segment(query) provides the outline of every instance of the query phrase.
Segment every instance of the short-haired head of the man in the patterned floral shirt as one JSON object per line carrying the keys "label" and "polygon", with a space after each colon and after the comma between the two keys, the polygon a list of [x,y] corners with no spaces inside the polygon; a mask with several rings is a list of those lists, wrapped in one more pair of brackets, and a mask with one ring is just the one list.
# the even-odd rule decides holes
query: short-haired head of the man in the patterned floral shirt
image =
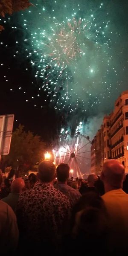
{"label": "short-haired head of the man in the patterned floral shirt", "polygon": [[51,161],[43,161],[38,166],[38,177],[41,182],[51,183],[55,178],[55,164]]}

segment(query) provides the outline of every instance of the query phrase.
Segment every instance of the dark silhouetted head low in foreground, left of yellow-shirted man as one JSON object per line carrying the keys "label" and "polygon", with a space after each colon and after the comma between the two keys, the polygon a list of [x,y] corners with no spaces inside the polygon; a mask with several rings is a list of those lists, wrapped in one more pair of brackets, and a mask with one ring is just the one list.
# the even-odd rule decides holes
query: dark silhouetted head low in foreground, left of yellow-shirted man
{"label": "dark silhouetted head low in foreground, left of yellow-shirted man", "polygon": [[[87,192],[73,208],[72,236],[78,246],[87,242],[89,251],[95,252],[95,246],[105,239],[107,233],[107,212],[104,201],[95,192]],[[92,246],[92,238],[95,238]],[[106,241],[105,241],[106,242]]]}

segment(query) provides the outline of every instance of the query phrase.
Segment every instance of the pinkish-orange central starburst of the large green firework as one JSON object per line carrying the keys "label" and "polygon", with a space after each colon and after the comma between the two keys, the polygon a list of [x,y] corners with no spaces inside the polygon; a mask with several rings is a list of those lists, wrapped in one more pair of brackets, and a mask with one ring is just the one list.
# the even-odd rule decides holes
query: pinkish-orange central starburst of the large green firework
{"label": "pinkish-orange central starburst of the large green firework", "polygon": [[[84,54],[84,52],[82,51],[82,49],[79,47],[79,43],[76,41],[77,37],[76,37],[76,33],[77,36],[80,35],[81,30],[83,31],[83,29],[85,29],[85,27],[87,26],[88,23],[85,23],[82,28],[81,28],[81,18],[79,18],[79,22],[77,23],[77,21],[75,20],[75,18],[73,18],[73,25],[70,22],[67,22],[68,28],[70,29],[70,31],[68,31],[67,26],[61,28],[61,31],[56,33],[54,31],[54,34],[56,36],[56,38],[50,38],[50,41],[52,40],[52,42],[48,43],[48,44],[44,44],[47,47],[49,47],[49,49],[53,48],[53,52],[52,53],[47,53],[48,56],[54,56],[57,55],[55,58],[53,58],[53,61],[57,60],[56,64],[58,65],[58,67],[62,64],[62,66],[64,67],[65,65],[69,65],[70,64],[70,60],[73,60],[73,58],[81,58],[81,53]],[[74,26],[75,24],[75,26]],[[66,32],[65,32],[66,31]],[[73,35],[75,33],[75,35]],[[45,53],[46,54],[46,53]],[[66,55],[66,56],[64,56]],[[66,62],[66,63],[65,63]]]}

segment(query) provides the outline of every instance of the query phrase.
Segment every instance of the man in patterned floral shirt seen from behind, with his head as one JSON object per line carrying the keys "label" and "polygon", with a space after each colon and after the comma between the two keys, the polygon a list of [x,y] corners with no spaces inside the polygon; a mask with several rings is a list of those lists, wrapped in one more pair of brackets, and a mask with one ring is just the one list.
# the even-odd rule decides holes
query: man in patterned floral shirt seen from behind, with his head
{"label": "man in patterned floral shirt seen from behind, with his head", "polygon": [[55,165],[44,161],[38,167],[40,183],[20,195],[17,222],[20,232],[20,253],[53,253],[60,245],[70,212],[67,196],[52,186]]}

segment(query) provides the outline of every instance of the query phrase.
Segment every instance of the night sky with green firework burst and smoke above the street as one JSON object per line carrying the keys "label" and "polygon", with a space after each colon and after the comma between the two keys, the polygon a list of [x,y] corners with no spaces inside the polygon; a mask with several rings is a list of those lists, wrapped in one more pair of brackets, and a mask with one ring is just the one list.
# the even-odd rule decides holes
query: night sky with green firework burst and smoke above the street
{"label": "night sky with green firework burst and smoke above the street", "polygon": [[14,129],[21,123],[48,142],[79,122],[92,139],[128,89],[128,3],[32,4],[1,20],[0,115],[14,113]]}

